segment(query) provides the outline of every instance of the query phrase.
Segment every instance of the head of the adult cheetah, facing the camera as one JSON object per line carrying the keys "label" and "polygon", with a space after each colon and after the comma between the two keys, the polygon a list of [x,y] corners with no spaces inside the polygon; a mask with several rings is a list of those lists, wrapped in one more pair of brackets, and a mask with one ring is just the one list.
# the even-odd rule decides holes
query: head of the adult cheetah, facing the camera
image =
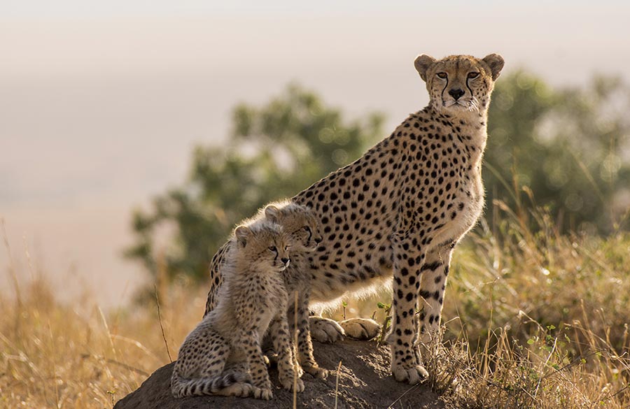
{"label": "head of the adult cheetah, facing the camera", "polygon": [[451,55],[434,59],[422,54],[416,57],[414,66],[426,82],[430,106],[439,113],[459,116],[488,109],[494,81],[503,69],[503,57]]}

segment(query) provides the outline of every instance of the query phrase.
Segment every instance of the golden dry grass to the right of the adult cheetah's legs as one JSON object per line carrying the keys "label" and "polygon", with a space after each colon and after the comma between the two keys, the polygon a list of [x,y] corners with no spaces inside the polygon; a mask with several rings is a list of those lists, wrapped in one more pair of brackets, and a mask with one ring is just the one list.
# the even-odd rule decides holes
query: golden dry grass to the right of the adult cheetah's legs
{"label": "golden dry grass to the right of the adult cheetah's legs", "polygon": [[454,263],[433,387],[462,408],[630,407],[630,235],[496,209]]}

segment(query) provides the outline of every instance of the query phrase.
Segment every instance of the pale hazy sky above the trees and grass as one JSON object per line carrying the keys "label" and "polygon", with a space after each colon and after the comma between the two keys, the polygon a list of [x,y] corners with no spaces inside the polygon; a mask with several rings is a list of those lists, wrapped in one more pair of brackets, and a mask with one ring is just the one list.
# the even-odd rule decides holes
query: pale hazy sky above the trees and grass
{"label": "pale hazy sky above the trees and grass", "polygon": [[27,277],[27,247],[59,291],[85,282],[116,304],[144,277],[120,259],[132,208],[186,177],[195,144],[225,139],[235,103],[295,80],[392,128],[426,104],[421,52],[500,52],[506,71],[556,86],[628,82],[629,21],[622,1],[0,0],[0,217],[13,256]]}

